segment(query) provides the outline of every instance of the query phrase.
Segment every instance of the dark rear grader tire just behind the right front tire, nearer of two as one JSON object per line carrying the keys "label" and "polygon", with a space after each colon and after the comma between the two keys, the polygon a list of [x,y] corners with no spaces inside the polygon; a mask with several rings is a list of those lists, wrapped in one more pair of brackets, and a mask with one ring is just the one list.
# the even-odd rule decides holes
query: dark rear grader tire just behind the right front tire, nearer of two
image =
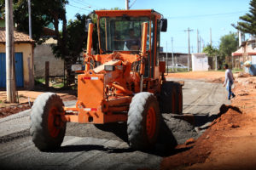
{"label": "dark rear grader tire just behind the right front tire, nearer of two", "polygon": [[173,82],[165,82],[162,84],[159,96],[160,113],[174,113],[176,96]]}

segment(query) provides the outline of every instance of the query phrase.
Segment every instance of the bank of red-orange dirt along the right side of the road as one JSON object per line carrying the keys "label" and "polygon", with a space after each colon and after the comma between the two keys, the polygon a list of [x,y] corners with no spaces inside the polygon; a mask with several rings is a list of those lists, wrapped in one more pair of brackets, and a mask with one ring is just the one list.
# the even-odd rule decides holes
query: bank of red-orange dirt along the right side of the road
{"label": "bank of red-orange dirt along the right side of the road", "polygon": [[256,77],[237,76],[235,87],[232,105],[195,143],[178,145],[185,151],[164,158],[160,169],[256,169]]}

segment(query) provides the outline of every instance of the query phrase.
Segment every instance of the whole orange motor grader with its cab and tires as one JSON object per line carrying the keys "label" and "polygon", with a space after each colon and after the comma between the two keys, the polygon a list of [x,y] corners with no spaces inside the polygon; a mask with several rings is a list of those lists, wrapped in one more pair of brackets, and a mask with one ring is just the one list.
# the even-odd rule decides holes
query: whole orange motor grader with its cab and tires
{"label": "whole orange motor grader with its cab and tires", "polygon": [[159,59],[167,20],[151,9],[96,15],[99,54],[91,53],[90,23],[84,65],[73,65],[79,72],[76,105],[64,107],[58,95],[44,93],[32,106],[30,132],[39,150],[60,147],[67,122],[127,122],[130,146],[148,149],[158,137],[160,113],[182,113],[182,85],[166,81],[166,63]]}

